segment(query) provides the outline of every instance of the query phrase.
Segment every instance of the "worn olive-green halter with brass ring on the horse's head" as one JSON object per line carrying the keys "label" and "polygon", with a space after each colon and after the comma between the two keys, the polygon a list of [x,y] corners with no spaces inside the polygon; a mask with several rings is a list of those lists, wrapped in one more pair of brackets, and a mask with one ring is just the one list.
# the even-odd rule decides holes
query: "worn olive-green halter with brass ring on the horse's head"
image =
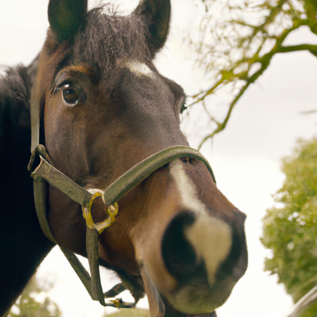
{"label": "worn olive-green halter with brass ring on the horse's head", "polygon": [[[214,182],[216,183],[212,169],[208,161],[197,150],[187,146],[172,146],[159,151],[134,165],[129,171],[114,181],[105,190],[103,195],[101,193],[96,193],[93,195],[53,166],[45,150],[45,147],[42,144],[39,144],[39,113],[39,103],[34,102],[34,100],[31,98],[32,155],[28,165],[28,170],[31,172],[31,177],[33,178],[36,214],[39,219],[42,231],[50,241],[58,245],[50,230],[47,219],[46,196],[47,183],[49,183],[82,206],[83,216],[87,224],[86,250],[90,275],[72,251],[61,245],[59,245],[59,247],[66,256],[70,265],[73,267],[76,274],[81,279],[81,282],[84,284],[91,298],[93,300],[99,301],[103,306],[112,306],[118,308],[135,307],[137,299],[135,299],[136,301],[134,303],[125,303],[121,299],[116,299],[108,303],[105,302],[105,298],[114,297],[125,289],[129,289],[130,292],[132,292],[133,287],[131,286],[131,282],[125,281],[123,278],[121,278],[122,283],[117,284],[108,292],[103,293],[98,263],[99,233],[101,233],[102,230],[110,226],[115,221],[115,216],[118,213],[117,201],[165,164],[182,157],[198,159],[206,165]],[[35,162],[40,163],[38,166],[34,166],[36,165]],[[91,206],[94,199],[96,199],[98,196],[102,196],[102,199],[105,203],[105,215],[107,217],[103,222],[94,223],[91,216]]]}

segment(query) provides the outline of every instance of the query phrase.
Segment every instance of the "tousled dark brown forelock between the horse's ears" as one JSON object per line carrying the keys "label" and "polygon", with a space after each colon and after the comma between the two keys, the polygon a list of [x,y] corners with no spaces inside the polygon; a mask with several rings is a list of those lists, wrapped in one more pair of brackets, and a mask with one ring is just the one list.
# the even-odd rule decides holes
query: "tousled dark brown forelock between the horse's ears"
{"label": "tousled dark brown forelock between the horse's ears", "polygon": [[109,9],[109,5],[95,8],[87,13],[74,38],[74,62],[94,61],[92,66],[107,74],[113,62],[120,58],[150,61],[147,35],[146,21],[135,13],[121,16]]}

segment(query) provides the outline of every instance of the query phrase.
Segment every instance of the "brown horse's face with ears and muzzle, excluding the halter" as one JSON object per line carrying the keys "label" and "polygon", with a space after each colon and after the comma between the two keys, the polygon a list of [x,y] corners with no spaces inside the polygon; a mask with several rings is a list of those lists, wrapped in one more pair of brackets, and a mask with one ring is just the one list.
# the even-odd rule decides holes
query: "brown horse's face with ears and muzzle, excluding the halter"
{"label": "brown horse's face with ears and muzzle, excluding the halter", "polygon": [[[142,1],[127,17],[86,13],[87,1],[76,9],[72,2],[49,3],[33,98],[44,104],[55,167],[91,192],[104,191],[151,154],[188,145],[179,129],[184,91],[152,63],[166,40],[170,2]],[[247,266],[245,216],[202,162],[175,160],[118,204],[116,222],[100,235],[100,258],[121,275],[142,276],[153,316],[153,285],[176,315],[223,304]],[[85,256],[81,206],[50,186],[49,207],[55,239]],[[103,214],[103,206],[95,209]]]}

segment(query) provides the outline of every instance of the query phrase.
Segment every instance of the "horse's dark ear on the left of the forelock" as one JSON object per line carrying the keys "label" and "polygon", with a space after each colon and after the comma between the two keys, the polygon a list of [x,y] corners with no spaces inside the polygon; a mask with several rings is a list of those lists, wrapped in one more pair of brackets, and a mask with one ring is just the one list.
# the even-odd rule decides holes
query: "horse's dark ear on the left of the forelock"
{"label": "horse's dark ear on the left of the forelock", "polygon": [[58,42],[73,36],[87,12],[87,0],[50,0],[48,8],[49,25]]}

